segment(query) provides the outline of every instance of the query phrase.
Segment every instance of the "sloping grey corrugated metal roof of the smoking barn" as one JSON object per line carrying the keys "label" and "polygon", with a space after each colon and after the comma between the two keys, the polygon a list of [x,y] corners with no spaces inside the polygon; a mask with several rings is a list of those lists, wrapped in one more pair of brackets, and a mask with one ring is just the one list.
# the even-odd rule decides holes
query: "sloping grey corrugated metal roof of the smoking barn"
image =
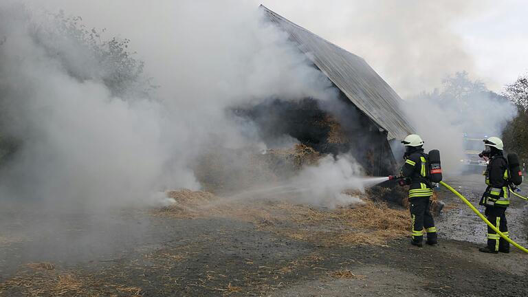
{"label": "sloping grey corrugated metal roof of the smoking barn", "polygon": [[405,120],[398,94],[360,56],[322,39],[261,5],[270,21],[287,32],[299,49],[361,111],[388,132],[387,138],[404,139],[414,129]]}

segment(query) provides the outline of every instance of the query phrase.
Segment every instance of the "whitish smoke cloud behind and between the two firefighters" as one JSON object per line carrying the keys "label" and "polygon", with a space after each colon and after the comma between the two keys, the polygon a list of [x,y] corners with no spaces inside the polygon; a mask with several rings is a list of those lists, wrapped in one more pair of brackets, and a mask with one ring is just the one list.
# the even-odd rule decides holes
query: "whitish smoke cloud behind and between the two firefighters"
{"label": "whitish smoke cloud behind and between the two firefighters", "polygon": [[483,83],[471,81],[466,73],[457,73],[446,82],[432,94],[410,98],[404,109],[426,142],[426,151],[439,149],[444,172],[456,175],[471,170],[460,162],[468,158],[466,151],[484,149],[483,142],[465,142],[465,137],[501,137],[517,109],[506,98],[488,91]]}

